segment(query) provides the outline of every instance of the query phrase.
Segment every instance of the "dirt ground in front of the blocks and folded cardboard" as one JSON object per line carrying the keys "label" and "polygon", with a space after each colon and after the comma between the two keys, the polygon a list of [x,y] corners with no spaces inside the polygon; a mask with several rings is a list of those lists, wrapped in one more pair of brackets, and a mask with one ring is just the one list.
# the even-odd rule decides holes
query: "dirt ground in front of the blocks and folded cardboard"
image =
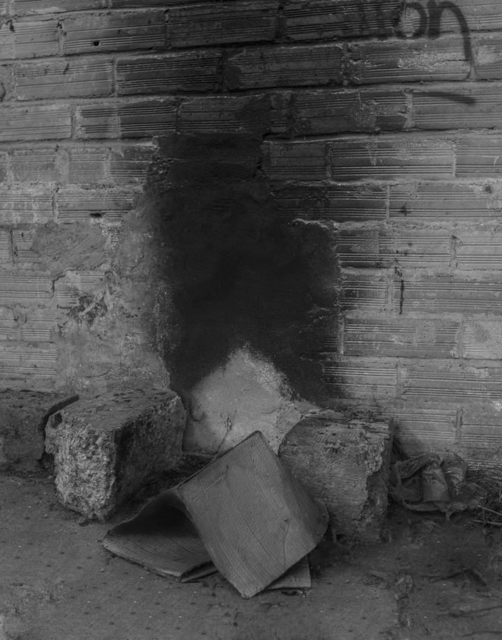
{"label": "dirt ground in front of the blocks and folded cardboard", "polygon": [[393,506],[385,542],[325,539],[310,590],[250,600],[219,575],[181,584],[112,556],[109,523],[61,507],[47,475],[0,476],[0,520],[0,640],[502,637],[502,529],[471,515]]}

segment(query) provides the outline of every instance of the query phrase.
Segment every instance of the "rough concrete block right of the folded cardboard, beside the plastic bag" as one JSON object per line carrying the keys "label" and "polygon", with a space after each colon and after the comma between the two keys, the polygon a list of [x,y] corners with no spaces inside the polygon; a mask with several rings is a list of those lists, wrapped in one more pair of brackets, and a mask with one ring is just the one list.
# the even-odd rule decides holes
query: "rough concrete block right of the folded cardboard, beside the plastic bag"
{"label": "rough concrete block right of the folded cardboard, beside the plastic bag", "polygon": [[326,504],[333,533],[379,540],[387,515],[391,448],[388,423],[323,411],[291,429],[279,457]]}

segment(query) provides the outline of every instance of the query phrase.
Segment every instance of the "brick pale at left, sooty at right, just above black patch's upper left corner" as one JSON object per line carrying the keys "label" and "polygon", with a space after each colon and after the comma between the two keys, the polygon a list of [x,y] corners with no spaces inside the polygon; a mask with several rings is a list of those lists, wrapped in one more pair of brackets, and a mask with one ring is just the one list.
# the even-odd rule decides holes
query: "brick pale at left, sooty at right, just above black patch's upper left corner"
{"label": "brick pale at left, sooty at right, just above black patch's upper left corner", "polygon": [[81,139],[161,136],[174,130],[176,109],[174,99],[77,107],[76,134]]}

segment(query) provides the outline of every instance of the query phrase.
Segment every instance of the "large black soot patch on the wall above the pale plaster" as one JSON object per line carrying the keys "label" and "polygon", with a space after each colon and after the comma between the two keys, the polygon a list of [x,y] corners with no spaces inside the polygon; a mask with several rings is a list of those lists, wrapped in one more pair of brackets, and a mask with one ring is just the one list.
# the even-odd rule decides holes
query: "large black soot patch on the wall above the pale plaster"
{"label": "large black soot patch on the wall above the pale plaster", "polygon": [[245,347],[298,396],[322,403],[319,354],[335,331],[335,230],[280,217],[257,171],[260,143],[241,134],[162,141],[147,191],[172,292],[162,350],[185,398]]}

